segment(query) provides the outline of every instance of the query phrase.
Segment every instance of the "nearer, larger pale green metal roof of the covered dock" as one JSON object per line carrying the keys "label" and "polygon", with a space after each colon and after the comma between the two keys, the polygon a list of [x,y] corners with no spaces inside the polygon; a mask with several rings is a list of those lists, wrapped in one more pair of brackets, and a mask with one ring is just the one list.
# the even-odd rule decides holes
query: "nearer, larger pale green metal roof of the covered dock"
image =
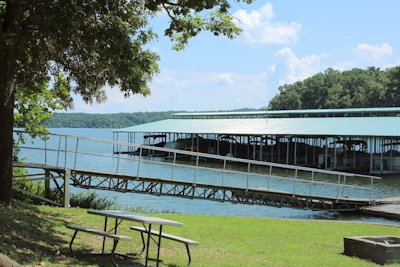
{"label": "nearer, larger pale green metal roof of the covered dock", "polygon": [[397,138],[400,117],[168,119],[114,132]]}

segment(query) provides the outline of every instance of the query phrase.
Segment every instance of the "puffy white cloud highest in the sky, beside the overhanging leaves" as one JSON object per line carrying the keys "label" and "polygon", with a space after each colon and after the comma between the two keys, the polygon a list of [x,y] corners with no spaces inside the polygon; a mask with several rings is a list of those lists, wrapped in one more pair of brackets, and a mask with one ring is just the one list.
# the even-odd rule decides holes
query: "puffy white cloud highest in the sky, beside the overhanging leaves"
{"label": "puffy white cloud highest in the sky, beside the overhanging leaves", "polygon": [[301,24],[297,22],[272,22],[274,17],[271,3],[259,10],[239,9],[233,16],[236,25],[242,28],[239,40],[249,44],[289,44],[297,41]]}

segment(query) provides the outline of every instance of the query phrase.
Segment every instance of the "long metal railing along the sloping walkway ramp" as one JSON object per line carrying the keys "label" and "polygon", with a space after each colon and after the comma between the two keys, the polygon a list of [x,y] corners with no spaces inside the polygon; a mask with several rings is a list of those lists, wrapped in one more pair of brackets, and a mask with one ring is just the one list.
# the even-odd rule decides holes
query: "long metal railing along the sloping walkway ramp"
{"label": "long metal railing along the sloping walkway ramp", "polygon": [[[15,133],[27,135],[24,131],[15,131]],[[284,191],[293,195],[307,194],[369,200],[372,197],[374,181],[380,179],[380,177],[370,175],[71,135],[46,134],[40,140],[26,139],[28,141],[25,144],[19,145],[21,152],[42,153],[41,156],[37,153],[25,153],[29,162],[68,169],[136,175],[137,178],[154,176],[152,178],[165,180],[183,179],[177,173],[185,169],[192,170],[185,172],[184,179],[193,184],[211,183],[220,186],[236,186],[246,190],[281,190],[281,185],[284,184]],[[121,149],[119,149],[119,154],[114,155],[111,146],[130,147],[130,150],[136,151],[137,155],[122,154]],[[100,149],[100,147],[103,148]],[[164,154],[164,160],[145,156],[150,151]],[[107,160],[104,162],[103,159]],[[150,170],[155,170],[156,173],[149,173]]]}

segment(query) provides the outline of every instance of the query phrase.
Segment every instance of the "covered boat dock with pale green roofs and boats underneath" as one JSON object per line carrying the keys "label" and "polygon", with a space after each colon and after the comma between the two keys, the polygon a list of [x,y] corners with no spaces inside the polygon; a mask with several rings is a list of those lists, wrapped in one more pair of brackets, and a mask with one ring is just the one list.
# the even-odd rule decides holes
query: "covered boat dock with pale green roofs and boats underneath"
{"label": "covered boat dock with pale green roofs and boats underneath", "polygon": [[[359,173],[400,172],[400,108],[177,113],[114,141]],[[168,157],[166,154],[148,156]],[[137,154],[114,147],[116,154]]]}

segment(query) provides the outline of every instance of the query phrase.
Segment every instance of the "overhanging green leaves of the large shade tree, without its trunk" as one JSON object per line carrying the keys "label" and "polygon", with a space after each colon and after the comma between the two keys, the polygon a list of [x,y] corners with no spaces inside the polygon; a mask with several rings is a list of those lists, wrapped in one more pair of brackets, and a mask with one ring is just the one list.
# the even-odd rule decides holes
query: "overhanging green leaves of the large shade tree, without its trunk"
{"label": "overhanging green leaves of the large shade tree, without its trunk", "polygon": [[126,97],[150,94],[159,56],[148,49],[157,38],[149,18],[162,10],[170,18],[165,34],[175,50],[202,31],[228,38],[240,33],[227,0],[21,0],[9,5],[0,3],[0,20],[7,22],[7,12],[18,11],[20,16],[12,15],[19,28],[0,32],[0,52],[15,51],[7,58],[17,64],[9,74],[15,79],[15,125],[34,134],[45,131],[41,125],[53,111],[73,106],[72,92],[88,103],[105,101],[105,86],[119,88]]}

